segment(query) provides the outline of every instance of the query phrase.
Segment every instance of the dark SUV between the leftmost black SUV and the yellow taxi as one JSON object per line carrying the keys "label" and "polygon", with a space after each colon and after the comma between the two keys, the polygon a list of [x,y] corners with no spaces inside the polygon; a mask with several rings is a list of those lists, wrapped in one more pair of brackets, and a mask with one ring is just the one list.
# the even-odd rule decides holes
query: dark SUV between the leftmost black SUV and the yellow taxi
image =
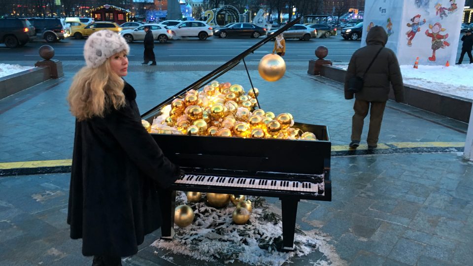
{"label": "dark SUV between the leftmost black SUV and the yellow taxi", "polygon": [[60,18],[31,18],[28,19],[36,30],[36,37],[47,42],[64,40],[70,33],[66,21]]}

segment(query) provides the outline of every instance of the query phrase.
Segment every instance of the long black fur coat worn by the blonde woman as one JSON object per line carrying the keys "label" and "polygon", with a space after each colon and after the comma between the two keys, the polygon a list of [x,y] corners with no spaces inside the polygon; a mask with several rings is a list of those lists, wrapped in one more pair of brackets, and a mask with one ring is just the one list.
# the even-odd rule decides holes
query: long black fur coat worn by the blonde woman
{"label": "long black fur coat worn by the blonde woman", "polygon": [[124,107],[75,123],[68,224],[84,256],[136,254],[161,226],[160,189],[180,172],[141,125],[135,89],[123,92]]}

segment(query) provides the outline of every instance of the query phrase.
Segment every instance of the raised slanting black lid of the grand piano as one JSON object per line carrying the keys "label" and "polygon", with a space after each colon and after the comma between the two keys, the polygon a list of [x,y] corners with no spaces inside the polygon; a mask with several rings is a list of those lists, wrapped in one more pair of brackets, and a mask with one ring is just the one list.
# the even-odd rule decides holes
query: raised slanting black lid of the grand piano
{"label": "raised slanting black lid of the grand piano", "polygon": [[183,93],[185,93],[185,92],[187,92],[191,89],[194,89],[194,90],[197,91],[200,88],[202,88],[205,84],[207,84],[210,81],[215,80],[219,76],[225,74],[228,70],[230,70],[230,69],[234,68],[235,66],[237,66],[241,62],[241,60],[243,60],[247,55],[253,53],[256,49],[260,48],[265,43],[269,42],[272,38],[275,38],[275,36],[277,36],[278,34],[283,33],[284,31],[286,31],[290,27],[297,24],[297,22],[299,22],[301,20],[301,18],[302,18],[302,16],[299,16],[295,20],[289,22],[287,25],[285,25],[284,27],[277,30],[275,33],[273,33],[271,35],[267,35],[266,38],[259,41],[255,45],[251,46],[247,50],[243,51],[241,54],[237,55],[236,57],[234,57],[233,59],[231,59],[227,63],[223,64],[222,66],[217,67],[215,70],[213,70],[212,72],[210,72],[207,75],[203,76],[198,81],[192,83],[191,85],[187,86],[185,89],[181,90],[180,92],[178,92],[178,93],[174,94],[173,96],[169,97],[167,100],[164,100],[160,104],[156,105],[151,110],[149,110],[149,111],[145,112],[144,114],[142,114],[141,119],[145,119],[145,120],[149,119],[150,117],[155,115],[156,111],[158,111],[164,104],[169,103],[171,100],[173,100],[177,96],[182,95]]}

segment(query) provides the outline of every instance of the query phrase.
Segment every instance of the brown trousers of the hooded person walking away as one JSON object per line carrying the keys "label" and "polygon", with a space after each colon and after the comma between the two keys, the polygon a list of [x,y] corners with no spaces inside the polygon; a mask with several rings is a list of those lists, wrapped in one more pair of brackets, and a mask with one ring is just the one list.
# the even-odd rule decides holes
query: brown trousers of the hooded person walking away
{"label": "brown trousers of the hooded person walking away", "polygon": [[371,146],[376,145],[378,143],[379,132],[381,131],[384,107],[386,107],[385,101],[355,100],[355,104],[353,105],[355,114],[353,115],[351,124],[351,140],[360,141],[365,117],[368,115],[368,110],[370,110],[370,129],[368,130],[366,142]]}

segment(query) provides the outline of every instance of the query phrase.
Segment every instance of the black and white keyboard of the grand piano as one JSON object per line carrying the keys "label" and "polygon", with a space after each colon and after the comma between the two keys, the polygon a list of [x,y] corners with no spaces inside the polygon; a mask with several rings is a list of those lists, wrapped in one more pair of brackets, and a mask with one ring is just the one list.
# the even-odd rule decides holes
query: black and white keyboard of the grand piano
{"label": "black and white keyboard of the grand piano", "polygon": [[186,174],[181,176],[181,178],[177,179],[174,183],[203,185],[210,187],[234,187],[275,191],[307,192],[315,194],[324,193],[323,182],[320,184],[314,184],[311,182],[300,181]]}

